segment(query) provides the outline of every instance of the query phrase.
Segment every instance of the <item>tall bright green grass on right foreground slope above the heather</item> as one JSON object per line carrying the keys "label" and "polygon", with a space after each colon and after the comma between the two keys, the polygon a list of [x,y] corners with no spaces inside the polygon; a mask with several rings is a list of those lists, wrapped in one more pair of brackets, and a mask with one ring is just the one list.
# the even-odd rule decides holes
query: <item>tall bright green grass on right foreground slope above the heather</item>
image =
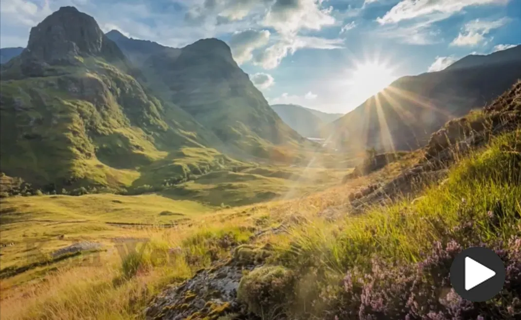
{"label": "tall bright green grass on right foreground slope above the heather", "polygon": [[[473,242],[506,243],[521,233],[520,139],[519,130],[495,138],[490,146],[451,168],[446,183],[427,187],[414,203],[404,198],[388,207],[349,216],[344,222],[305,220],[289,235],[270,240],[277,249],[271,263],[301,275],[293,292],[299,292],[299,285],[309,287],[309,276],[314,277],[308,288],[311,291],[306,291],[311,296],[296,297],[297,301],[318,303],[319,296],[332,295],[333,305],[335,299],[341,299],[336,296],[341,295],[340,288],[333,284],[349,270],[370,272],[374,259],[413,267],[410,265],[424,259],[436,241],[468,241],[468,234],[458,228],[468,221],[476,222]],[[489,211],[500,216],[499,230],[487,222]],[[295,305],[285,312],[296,316],[299,311],[293,308]],[[316,310],[318,314],[323,311]]]}

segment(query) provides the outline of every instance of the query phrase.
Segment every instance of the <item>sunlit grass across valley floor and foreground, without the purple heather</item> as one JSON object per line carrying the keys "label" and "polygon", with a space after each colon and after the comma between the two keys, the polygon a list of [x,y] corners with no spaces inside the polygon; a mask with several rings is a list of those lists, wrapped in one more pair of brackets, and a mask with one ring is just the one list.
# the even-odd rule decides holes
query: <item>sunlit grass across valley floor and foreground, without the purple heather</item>
{"label": "sunlit grass across valley floor and foreground, without the purple heather", "polygon": [[[164,230],[122,229],[102,224],[100,221],[113,220],[117,214],[96,213],[103,208],[95,207],[95,202],[100,202],[99,205],[105,208],[107,206],[121,208],[126,206],[125,201],[135,200],[132,206],[139,206],[142,203],[143,207],[139,211],[160,216],[162,212],[160,210],[165,209],[162,207],[163,204],[170,207],[166,210],[175,212],[172,210],[175,201],[169,202],[172,200],[165,197],[90,195],[10,198],[7,203],[20,199],[20,207],[23,207],[22,200],[27,199],[34,199],[34,201],[41,199],[41,203],[34,204],[32,209],[26,208],[32,213],[28,213],[29,220],[24,222],[26,224],[16,227],[20,228],[19,231],[2,229],[3,239],[4,235],[21,243],[31,238],[47,239],[46,249],[50,251],[63,247],[69,239],[67,237],[65,241],[57,239],[57,233],[44,237],[43,232],[46,232],[49,227],[57,228],[62,225],[64,229],[60,232],[67,229],[71,234],[70,240],[74,241],[97,239],[102,242],[107,241],[108,244],[111,237],[123,235],[147,237],[151,241],[150,247],[145,245],[143,251],[138,248],[137,253],[127,255],[123,260],[117,255],[112,257],[110,252],[103,253],[102,259],[107,259],[103,270],[81,267],[79,266],[81,260],[71,258],[69,261],[37,267],[23,274],[3,279],[2,288],[5,294],[9,295],[2,304],[5,310],[3,317],[132,318],[141,314],[147,301],[150,301],[161,288],[167,284],[180,283],[183,279],[192,276],[197,269],[208,267],[217,259],[227,257],[230,248],[241,244],[247,244],[244,248],[262,248],[266,243],[271,244],[273,248],[270,254],[263,256],[263,259],[267,259],[267,266],[246,275],[241,287],[256,290],[250,290],[251,292],[243,290],[240,295],[250,310],[260,312],[267,318],[276,314],[309,318],[310,315],[320,317],[325,311],[334,313],[345,308],[345,304],[342,304],[345,302],[342,300],[344,299],[343,287],[338,285],[339,281],[350,270],[369,271],[373,266],[373,259],[382,263],[402,265],[404,268],[414,268],[413,263],[421,260],[423,253],[429,252],[435,241],[443,242],[464,237],[464,234],[453,227],[468,220],[478,222],[473,235],[476,239],[487,243],[506,240],[521,233],[517,220],[517,214],[521,211],[520,135],[521,132],[518,130],[498,137],[490,146],[461,159],[450,168],[448,181],[443,185],[426,187],[421,194],[423,197],[414,203],[411,203],[412,199],[404,198],[388,207],[372,208],[362,215],[350,216],[349,212],[345,212],[346,219],[332,222],[317,213],[325,208],[345,203],[346,196],[354,191],[353,188],[356,188],[357,184],[367,184],[367,180],[353,180],[348,185],[337,186],[322,193],[313,193],[297,200],[267,202],[221,212],[213,212],[213,209],[210,209],[211,212],[208,214],[194,213],[193,217],[197,219],[193,219],[190,224]],[[299,182],[305,181],[303,178],[306,176],[313,176],[306,175],[304,171],[299,173],[298,169],[242,168],[240,172],[208,173],[206,179],[203,175],[199,183],[195,181],[192,184],[197,183],[200,187],[213,188],[215,187],[213,182],[219,185],[233,180],[235,184],[250,184],[252,188],[253,183],[258,182],[259,179],[270,181],[284,177],[284,181]],[[316,173],[318,176],[323,176],[319,174],[318,169]],[[329,174],[334,176],[331,171]],[[218,181],[219,177],[222,178],[222,182]],[[370,176],[359,179],[368,178]],[[311,184],[311,181],[309,183]],[[103,201],[120,200],[123,203],[103,203],[100,200],[104,197],[106,199]],[[53,202],[53,206],[57,206],[57,203],[63,206],[63,201],[74,202],[75,199],[85,201],[83,205],[77,203],[75,210],[82,210],[81,207],[92,207],[92,212],[81,213],[81,215],[92,216],[95,221],[82,226],[76,224],[78,229],[75,229],[74,223],[43,225],[31,220],[38,215],[36,208],[41,207],[44,210],[49,208],[45,203],[51,200],[56,201]],[[91,201],[87,201],[88,199]],[[497,228],[492,229],[485,223],[487,211],[497,210],[498,202],[502,204],[503,215],[499,234]],[[188,205],[188,202],[185,205]],[[42,214],[45,216],[46,213]],[[60,219],[69,213],[62,214]],[[138,215],[129,213],[129,216],[138,219]],[[142,217],[144,216],[145,214],[142,214]],[[256,230],[278,226],[281,223],[289,223],[289,233],[259,238],[252,243],[250,237]],[[15,225],[17,223],[2,223],[3,228]],[[22,230],[26,232],[25,236]],[[17,246],[18,244],[2,249],[2,253],[6,253],[2,256],[3,266],[4,262],[8,263],[6,265],[20,266],[26,261],[23,260],[26,255],[22,247]],[[182,254],[167,265],[153,258],[154,250],[165,251],[169,248],[181,248]],[[81,279],[85,280],[79,280],[80,270]],[[40,282],[38,279],[42,278],[46,280]],[[71,281],[71,279],[76,280]],[[26,297],[12,296],[14,286],[20,286],[19,290],[27,290],[22,291],[27,292]],[[49,288],[53,288],[52,294],[43,293]],[[270,297],[283,297],[283,299],[270,299]],[[68,308],[70,305],[76,305],[77,308]],[[267,306],[269,310],[265,310]],[[15,308],[22,310],[16,311],[16,317]]]}

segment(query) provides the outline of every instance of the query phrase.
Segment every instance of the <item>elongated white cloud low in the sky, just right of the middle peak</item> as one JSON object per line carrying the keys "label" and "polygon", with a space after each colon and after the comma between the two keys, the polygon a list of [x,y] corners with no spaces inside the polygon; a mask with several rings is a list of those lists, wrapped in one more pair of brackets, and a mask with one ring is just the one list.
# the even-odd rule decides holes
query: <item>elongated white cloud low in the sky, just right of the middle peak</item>
{"label": "elongated white cloud low in the sky, just right of the middle peak", "polygon": [[288,54],[293,55],[296,50],[302,48],[338,49],[343,48],[343,40],[313,36],[287,37],[259,52],[254,58],[254,64],[262,66],[264,69],[274,69],[277,68],[284,57]]}

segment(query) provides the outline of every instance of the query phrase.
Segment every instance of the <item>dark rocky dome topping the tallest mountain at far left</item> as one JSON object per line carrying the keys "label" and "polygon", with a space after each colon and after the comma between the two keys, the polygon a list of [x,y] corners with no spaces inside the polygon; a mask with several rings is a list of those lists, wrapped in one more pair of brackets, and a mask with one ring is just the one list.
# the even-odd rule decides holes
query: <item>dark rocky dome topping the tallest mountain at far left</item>
{"label": "dark rocky dome topping the tallest mountain at far left", "polygon": [[75,56],[123,58],[96,20],[75,7],[61,7],[33,27],[26,55],[49,64],[71,62]]}

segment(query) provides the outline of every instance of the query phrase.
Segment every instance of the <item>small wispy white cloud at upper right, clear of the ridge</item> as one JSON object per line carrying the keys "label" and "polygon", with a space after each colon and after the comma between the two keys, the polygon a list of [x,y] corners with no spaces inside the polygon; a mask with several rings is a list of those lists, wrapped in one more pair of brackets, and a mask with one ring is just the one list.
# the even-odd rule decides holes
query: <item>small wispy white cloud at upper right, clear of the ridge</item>
{"label": "small wispy white cloud at upper right, clear of the ridge", "polygon": [[475,46],[486,41],[486,35],[493,29],[502,27],[508,22],[507,18],[495,21],[482,21],[479,19],[470,21],[464,25],[462,31],[451,42],[453,46]]}

